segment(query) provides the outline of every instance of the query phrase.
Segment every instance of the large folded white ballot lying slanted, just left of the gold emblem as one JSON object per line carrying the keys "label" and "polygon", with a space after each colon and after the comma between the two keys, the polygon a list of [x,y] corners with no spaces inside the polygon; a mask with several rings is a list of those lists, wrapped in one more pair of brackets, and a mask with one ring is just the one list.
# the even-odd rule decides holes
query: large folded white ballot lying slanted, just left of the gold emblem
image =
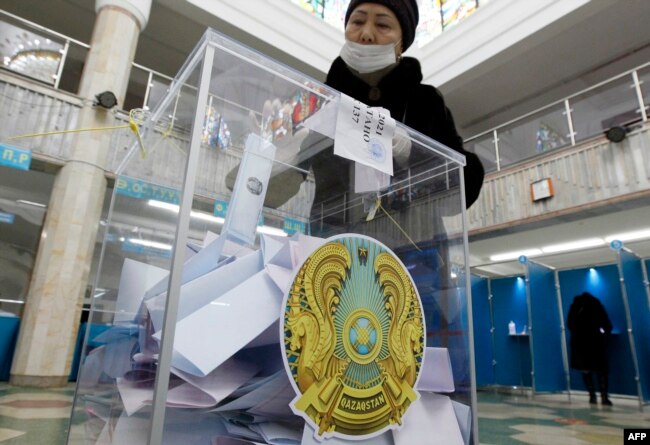
{"label": "large folded white ballot lying slanted, just left of the gold emblem", "polygon": [[281,305],[282,292],[268,274],[255,274],[177,323],[172,366],[209,374],[279,319]]}

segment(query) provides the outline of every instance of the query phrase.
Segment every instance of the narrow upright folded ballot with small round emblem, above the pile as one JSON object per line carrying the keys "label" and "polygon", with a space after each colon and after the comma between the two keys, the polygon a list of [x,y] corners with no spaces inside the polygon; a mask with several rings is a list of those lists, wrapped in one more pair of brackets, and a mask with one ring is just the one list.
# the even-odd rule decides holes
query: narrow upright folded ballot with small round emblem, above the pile
{"label": "narrow upright folded ballot with small round emblem, above the pile", "polygon": [[260,136],[248,135],[221,236],[244,245],[255,243],[275,151],[275,146]]}

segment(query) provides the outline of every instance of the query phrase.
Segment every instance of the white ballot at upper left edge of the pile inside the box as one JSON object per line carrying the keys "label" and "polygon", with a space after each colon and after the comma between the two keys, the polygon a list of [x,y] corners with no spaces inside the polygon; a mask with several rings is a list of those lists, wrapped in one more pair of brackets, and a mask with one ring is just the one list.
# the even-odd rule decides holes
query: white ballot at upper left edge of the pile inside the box
{"label": "white ballot at upper left edge of the pile inside the box", "polygon": [[147,289],[165,278],[168,273],[166,269],[150,264],[129,258],[124,260],[113,322],[115,324],[132,322]]}

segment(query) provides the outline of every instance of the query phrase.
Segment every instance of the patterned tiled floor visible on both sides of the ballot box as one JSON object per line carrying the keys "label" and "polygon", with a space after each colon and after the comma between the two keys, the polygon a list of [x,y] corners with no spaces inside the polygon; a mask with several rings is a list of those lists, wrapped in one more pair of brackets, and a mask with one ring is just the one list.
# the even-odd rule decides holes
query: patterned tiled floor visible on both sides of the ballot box
{"label": "patterned tiled floor visible on both sides of the ballot box", "polygon": [[[0,444],[63,445],[74,387],[16,388],[0,383]],[[623,443],[623,428],[650,428],[650,408],[613,398],[613,407],[590,406],[585,396],[509,395],[479,392],[482,445]],[[121,444],[120,444],[121,445]]]}

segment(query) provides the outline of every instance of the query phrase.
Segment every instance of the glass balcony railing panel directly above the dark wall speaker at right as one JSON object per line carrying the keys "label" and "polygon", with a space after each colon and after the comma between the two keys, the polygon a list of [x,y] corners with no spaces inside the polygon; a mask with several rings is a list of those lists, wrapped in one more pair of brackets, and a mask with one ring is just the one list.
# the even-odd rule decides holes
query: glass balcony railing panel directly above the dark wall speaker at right
{"label": "glass balcony railing panel directly above the dark wall speaker at right", "polygon": [[576,142],[602,135],[618,125],[639,121],[641,114],[632,75],[626,75],[572,98]]}

